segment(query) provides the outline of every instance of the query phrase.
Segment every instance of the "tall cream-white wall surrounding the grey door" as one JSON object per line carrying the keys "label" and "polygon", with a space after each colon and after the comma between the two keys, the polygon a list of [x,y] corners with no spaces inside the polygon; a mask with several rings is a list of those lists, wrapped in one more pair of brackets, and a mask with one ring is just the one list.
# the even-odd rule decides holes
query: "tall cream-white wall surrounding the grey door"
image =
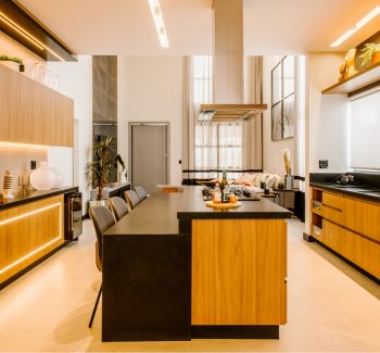
{"label": "tall cream-white wall surrounding the grey door", "polygon": [[[128,165],[128,122],[170,123],[170,184],[182,180],[182,56],[118,56],[118,153]],[[128,171],[128,178],[130,171]]]}

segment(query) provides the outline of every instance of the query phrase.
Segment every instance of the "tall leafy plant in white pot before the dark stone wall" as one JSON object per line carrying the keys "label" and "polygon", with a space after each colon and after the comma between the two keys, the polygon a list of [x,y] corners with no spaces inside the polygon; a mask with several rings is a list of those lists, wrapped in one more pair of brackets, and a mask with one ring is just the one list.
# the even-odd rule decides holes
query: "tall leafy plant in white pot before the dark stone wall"
{"label": "tall leafy plant in white pot before the dark stone wall", "polygon": [[114,151],[112,137],[107,137],[105,141],[94,142],[92,151],[99,157],[98,161],[89,162],[86,166],[87,187],[97,185],[98,197],[96,200],[90,200],[90,207],[94,205],[109,206],[109,200],[103,199],[103,189],[111,181],[111,171],[117,166],[116,161],[107,159],[110,151]]}

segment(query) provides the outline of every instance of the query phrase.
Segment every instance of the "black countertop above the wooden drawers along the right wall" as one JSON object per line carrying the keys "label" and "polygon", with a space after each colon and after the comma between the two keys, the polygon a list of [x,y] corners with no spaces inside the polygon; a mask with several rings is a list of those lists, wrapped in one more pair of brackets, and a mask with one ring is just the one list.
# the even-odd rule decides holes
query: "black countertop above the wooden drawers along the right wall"
{"label": "black countertop above the wooden drawers along the right wall", "polygon": [[331,192],[343,193],[354,198],[380,202],[380,188],[365,184],[339,185],[338,182],[311,182],[312,188],[319,188]]}

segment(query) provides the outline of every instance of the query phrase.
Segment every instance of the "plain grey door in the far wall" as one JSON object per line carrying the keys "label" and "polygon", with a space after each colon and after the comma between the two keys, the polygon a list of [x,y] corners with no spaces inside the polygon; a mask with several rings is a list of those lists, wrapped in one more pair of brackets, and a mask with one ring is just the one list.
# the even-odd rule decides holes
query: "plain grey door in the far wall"
{"label": "plain grey door in the far wall", "polygon": [[147,193],[167,184],[167,125],[131,125],[131,182]]}

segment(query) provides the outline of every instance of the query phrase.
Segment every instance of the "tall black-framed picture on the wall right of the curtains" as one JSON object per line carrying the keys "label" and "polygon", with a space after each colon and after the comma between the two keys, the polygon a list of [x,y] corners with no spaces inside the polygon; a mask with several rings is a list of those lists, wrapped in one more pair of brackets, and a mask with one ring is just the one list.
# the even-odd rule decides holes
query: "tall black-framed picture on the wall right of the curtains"
{"label": "tall black-framed picture on the wall right of the curtains", "polygon": [[284,56],[271,71],[271,140],[293,137],[294,56]]}

